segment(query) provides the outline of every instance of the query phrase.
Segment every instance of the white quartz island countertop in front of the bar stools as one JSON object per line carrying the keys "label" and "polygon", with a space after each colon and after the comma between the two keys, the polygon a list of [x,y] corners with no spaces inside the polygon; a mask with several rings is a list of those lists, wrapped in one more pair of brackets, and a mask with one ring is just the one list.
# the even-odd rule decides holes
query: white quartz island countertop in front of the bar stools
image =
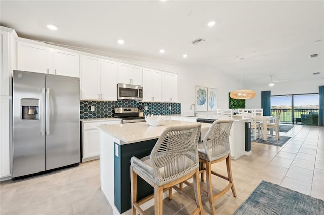
{"label": "white quartz island countertop in front of the bar stools", "polygon": [[[169,126],[189,125],[197,122],[165,120],[164,125],[150,126],[147,122],[126,123],[116,125],[101,125],[99,130],[120,140],[120,144],[136,143],[159,138]],[[201,123],[201,130],[209,129],[211,124]]]}

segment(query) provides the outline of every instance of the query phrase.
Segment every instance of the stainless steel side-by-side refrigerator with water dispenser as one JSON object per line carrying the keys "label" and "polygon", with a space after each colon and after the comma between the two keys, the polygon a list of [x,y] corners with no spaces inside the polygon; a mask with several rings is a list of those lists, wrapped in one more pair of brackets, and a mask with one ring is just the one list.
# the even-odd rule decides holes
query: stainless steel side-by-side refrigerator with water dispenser
{"label": "stainless steel side-by-side refrigerator with water dispenser", "polygon": [[80,162],[79,78],[13,73],[13,175]]}

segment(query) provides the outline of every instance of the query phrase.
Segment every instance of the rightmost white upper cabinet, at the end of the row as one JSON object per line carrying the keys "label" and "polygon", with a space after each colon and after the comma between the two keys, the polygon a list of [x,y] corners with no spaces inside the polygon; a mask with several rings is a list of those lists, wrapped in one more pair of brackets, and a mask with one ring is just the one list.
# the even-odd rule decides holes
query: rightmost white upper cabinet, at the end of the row
{"label": "rightmost white upper cabinet, at the end of the row", "polygon": [[162,101],[177,101],[177,75],[172,73],[162,73]]}

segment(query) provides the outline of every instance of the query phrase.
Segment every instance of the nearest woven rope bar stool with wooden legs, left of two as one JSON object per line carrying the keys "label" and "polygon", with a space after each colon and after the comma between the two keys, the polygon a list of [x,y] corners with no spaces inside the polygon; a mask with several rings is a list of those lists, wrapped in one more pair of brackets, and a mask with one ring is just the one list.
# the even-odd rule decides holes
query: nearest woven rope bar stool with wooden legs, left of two
{"label": "nearest woven rope bar stool with wooden legs, left of two", "polygon": [[[199,185],[198,140],[201,124],[170,126],[157,140],[149,156],[131,158],[131,193],[133,215],[145,214],[140,205],[154,198],[155,214],[162,213],[162,194],[170,187],[193,177],[197,207],[191,214],[203,214]],[[154,187],[154,194],[137,202],[137,175]],[[139,188],[140,189],[140,188]]]}

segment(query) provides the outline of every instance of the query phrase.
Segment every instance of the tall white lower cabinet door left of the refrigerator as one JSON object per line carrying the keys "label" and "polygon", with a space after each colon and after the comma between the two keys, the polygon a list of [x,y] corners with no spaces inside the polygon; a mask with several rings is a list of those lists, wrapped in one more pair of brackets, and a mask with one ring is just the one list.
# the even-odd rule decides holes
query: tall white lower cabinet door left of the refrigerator
{"label": "tall white lower cabinet door left of the refrigerator", "polygon": [[0,96],[0,177],[10,174],[9,103],[8,96]]}

